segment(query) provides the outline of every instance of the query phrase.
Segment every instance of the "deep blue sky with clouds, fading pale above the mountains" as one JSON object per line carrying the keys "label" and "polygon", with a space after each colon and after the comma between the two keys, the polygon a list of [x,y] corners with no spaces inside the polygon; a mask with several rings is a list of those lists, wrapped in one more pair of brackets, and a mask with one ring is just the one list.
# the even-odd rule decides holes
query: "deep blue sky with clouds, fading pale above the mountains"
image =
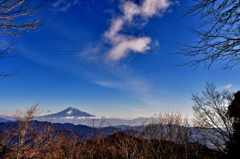
{"label": "deep blue sky with clouds, fading pale above the mountains", "polygon": [[219,90],[239,89],[239,69],[209,70],[173,65],[191,60],[173,42],[196,39],[170,0],[52,0],[43,9],[45,24],[18,38],[20,55],[0,61],[16,70],[0,80],[0,114],[11,115],[39,103],[42,114],[76,107],[97,116],[152,116],[168,109],[192,118],[191,92],[207,81]]}

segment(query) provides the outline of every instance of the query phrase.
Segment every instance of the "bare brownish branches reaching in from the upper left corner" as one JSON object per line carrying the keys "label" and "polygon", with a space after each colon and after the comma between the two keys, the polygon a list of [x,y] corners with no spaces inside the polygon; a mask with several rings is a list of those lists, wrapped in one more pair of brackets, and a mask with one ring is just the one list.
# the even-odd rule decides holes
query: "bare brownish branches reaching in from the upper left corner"
{"label": "bare brownish branches reaching in from the upper left corner", "polygon": [[[0,60],[14,57],[15,39],[24,32],[36,30],[42,26],[40,8],[47,0],[1,0],[0,1]],[[11,77],[17,71],[0,71],[0,77]]]}

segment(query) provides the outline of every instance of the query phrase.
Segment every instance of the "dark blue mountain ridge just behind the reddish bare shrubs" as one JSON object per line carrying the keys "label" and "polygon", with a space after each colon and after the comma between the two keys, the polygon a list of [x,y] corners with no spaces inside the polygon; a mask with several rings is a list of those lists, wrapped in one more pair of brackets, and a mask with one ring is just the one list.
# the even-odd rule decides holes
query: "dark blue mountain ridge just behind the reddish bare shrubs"
{"label": "dark blue mountain ridge just behind the reddish bare shrubs", "polygon": [[[11,132],[13,130],[16,130],[19,128],[18,126],[18,122],[0,122],[0,136],[2,135],[3,132]],[[35,131],[35,132],[39,132],[39,131],[43,131],[43,130],[47,130],[47,127],[51,127],[51,134],[53,134],[54,132],[63,132],[66,135],[70,135],[72,133],[78,135],[81,138],[84,138],[86,140],[88,139],[92,139],[94,134],[100,134],[102,136],[109,136],[111,138],[111,135],[115,134],[116,132],[120,132],[120,135],[124,135],[121,132],[127,132],[127,133],[132,133],[132,134],[136,134],[137,132],[139,133],[139,131],[142,132],[147,132],[147,131],[156,131],[157,129],[160,130],[165,130],[164,127],[162,127],[163,125],[160,124],[155,124],[154,127],[151,127],[151,124],[148,126],[125,126],[125,125],[118,125],[118,126],[108,126],[108,127],[104,127],[104,128],[95,128],[92,126],[86,126],[86,125],[74,125],[74,124],[70,124],[70,123],[50,123],[50,122],[46,122],[46,121],[30,121],[28,124],[29,128],[31,131]],[[149,128],[154,128],[149,129]],[[167,128],[167,127],[166,127]],[[184,128],[184,127],[182,127]],[[189,127],[192,131],[192,135],[194,135],[194,138],[196,138],[196,134],[195,132],[199,132],[201,131],[201,129],[199,128],[194,128],[194,127]],[[157,131],[156,131],[157,132]],[[87,136],[86,136],[87,135]],[[217,136],[212,136],[212,138],[214,139],[214,137]],[[189,140],[191,142],[194,142],[195,139],[193,138],[193,140]],[[207,144],[208,148],[214,149],[214,147],[212,147],[212,145],[210,144],[211,141],[208,140],[204,140],[204,133],[203,135],[198,134],[197,136],[198,139],[203,139],[204,143]],[[174,138],[172,138],[174,140]],[[112,140],[113,141],[113,140]],[[7,144],[14,144],[18,142],[18,137],[13,137],[11,138],[11,140],[9,140],[7,142]]]}

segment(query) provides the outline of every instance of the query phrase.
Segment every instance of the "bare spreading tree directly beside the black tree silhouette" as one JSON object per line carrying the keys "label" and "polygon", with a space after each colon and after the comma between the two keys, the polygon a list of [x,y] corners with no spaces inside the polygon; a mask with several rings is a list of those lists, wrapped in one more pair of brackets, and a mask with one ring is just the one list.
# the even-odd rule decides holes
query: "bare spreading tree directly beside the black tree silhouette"
{"label": "bare spreading tree directly beside the black tree silhouette", "polygon": [[214,83],[207,82],[202,95],[192,94],[194,101],[195,126],[203,142],[208,142],[213,148],[225,152],[226,142],[233,133],[233,119],[227,114],[228,106],[233,100],[233,94],[227,90],[217,91]]}

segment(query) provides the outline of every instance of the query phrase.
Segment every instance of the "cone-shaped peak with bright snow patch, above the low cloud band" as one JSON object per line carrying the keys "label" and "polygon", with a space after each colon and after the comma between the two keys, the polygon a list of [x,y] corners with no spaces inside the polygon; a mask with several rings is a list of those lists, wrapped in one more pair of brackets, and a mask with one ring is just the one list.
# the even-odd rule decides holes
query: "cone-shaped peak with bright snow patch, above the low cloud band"
{"label": "cone-shaped peak with bright snow patch, above the low cloud band", "polygon": [[69,107],[59,113],[45,115],[44,117],[64,118],[64,117],[95,117],[94,115],[82,112],[74,107]]}

